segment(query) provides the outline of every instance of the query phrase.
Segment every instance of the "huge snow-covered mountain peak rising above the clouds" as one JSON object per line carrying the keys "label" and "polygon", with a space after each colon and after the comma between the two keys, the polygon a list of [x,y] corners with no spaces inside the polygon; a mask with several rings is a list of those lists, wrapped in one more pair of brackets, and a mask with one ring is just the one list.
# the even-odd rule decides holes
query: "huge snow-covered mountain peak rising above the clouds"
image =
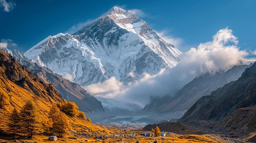
{"label": "huge snow-covered mountain peak rising above the clouds", "polygon": [[49,36],[25,55],[87,86],[112,76],[128,83],[144,72],[156,74],[175,66],[183,53],[131,11],[113,7],[73,35]]}

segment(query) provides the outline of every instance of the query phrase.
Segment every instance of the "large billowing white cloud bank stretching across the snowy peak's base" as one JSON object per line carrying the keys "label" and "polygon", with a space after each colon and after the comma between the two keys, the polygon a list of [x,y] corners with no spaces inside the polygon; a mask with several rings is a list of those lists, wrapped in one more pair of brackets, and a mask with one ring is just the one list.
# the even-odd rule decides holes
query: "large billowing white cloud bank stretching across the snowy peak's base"
{"label": "large billowing white cloud bank stretching across the snowy peak's base", "polygon": [[240,64],[239,59],[248,53],[240,51],[237,44],[237,37],[232,34],[232,30],[221,29],[213,35],[212,41],[191,48],[174,68],[163,69],[156,75],[145,73],[142,79],[127,86],[112,77],[103,83],[90,85],[86,89],[92,95],[112,97],[145,106],[150,101],[150,96],[172,96],[202,73],[215,74],[220,69],[228,70]]}

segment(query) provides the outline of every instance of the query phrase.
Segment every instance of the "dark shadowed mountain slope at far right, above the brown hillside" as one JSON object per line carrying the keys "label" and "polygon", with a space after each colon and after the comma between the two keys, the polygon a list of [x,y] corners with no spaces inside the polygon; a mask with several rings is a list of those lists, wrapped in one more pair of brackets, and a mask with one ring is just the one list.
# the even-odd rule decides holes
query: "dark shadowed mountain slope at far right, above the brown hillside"
{"label": "dark shadowed mountain slope at far right, above the brown hillside", "polygon": [[241,77],[200,98],[180,121],[220,121],[238,108],[256,106],[256,63]]}

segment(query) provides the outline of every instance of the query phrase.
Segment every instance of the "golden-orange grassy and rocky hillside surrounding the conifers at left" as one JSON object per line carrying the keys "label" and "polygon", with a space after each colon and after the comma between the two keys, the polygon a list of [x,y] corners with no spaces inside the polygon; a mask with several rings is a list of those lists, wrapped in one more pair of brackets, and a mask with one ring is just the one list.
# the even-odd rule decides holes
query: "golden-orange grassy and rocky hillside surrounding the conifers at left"
{"label": "golden-orange grassy and rocky hillside surrounding the conifers at left", "polygon": [[[63,102],[63,98],[52,86],[35,77],[26,66],[18,63],[10,54],[0,50],[0,91],[8,102],[0,108],[0,133],[8,134],[8,119],[13,108],[20,110],[27,101],[37,106],[42,120],[48,124],[48,113],[53,103]],[[67,116],[72,130],[91,130],[93,132],[112,132],[107,128],[89,123],[85,119]]]}

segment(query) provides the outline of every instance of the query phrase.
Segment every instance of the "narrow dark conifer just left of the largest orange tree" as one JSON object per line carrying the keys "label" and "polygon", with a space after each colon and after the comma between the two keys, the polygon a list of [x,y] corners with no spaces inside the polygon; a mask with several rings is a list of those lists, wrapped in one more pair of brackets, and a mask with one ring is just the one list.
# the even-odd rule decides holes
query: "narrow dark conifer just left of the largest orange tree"
{"label": "narrow dark conifer just left of the largest orange tree", "polygon": [[20,132],[20,128],[21,128],[20,119],[21,119],[20,112],[17,110],[17,108],[14,108],[9,118],[10,123],[8,124],[9,131],[13,134],[13,139],[15,134],[17,132]]}

